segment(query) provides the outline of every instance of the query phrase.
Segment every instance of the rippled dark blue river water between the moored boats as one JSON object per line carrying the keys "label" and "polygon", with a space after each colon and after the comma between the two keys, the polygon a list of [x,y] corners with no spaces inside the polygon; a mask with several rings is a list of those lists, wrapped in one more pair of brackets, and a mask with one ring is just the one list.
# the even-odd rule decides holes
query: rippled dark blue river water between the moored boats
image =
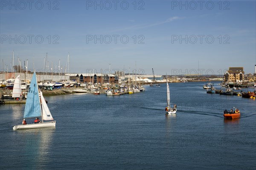
{"label": "rippled dark blue river water between the moored boats", "polygon": [[[169,84],[176,115],[164,111],[166,84],[131,95],[47,96],[55,128],[12,130],[24,105],[1,105],[0,169],[255,170],[256,101],[207,94],[203,85]],[[224,120],[233,107],[241,118]]]}

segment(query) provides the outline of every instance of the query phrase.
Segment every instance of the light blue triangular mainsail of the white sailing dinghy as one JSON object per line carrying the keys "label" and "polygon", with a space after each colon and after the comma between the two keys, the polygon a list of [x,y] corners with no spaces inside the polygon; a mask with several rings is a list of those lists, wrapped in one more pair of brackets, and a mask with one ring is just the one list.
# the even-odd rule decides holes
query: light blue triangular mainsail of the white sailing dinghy
{"label": "light blue triangular mainsail of the white sailing dinghy", "polygon": [[32,118],[39,116],[41,116],[41,105],[39,100],[38,84],[34,72],[27,94],[24,118]]}

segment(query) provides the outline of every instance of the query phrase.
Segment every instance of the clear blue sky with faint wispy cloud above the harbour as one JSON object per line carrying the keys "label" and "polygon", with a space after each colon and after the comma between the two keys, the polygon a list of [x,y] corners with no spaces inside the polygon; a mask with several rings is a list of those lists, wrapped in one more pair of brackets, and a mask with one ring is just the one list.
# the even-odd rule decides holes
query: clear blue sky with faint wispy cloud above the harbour
{"label": "clear blue sky with faint wispy cloud above the harbour", "polygon": [[145,74],[195,74],[198,63],[203,74],[223,75],[231,66],[254,73],[255,0],[23,2],[1,0],[1,70],[10,69],[14,50],[15,65],[28,59],[29,69],[33,62],[43,69],[48,53],[49,68],[61,60],[64,71],[70,53],[75,73],[109,64],[133,70],[135,63]]}

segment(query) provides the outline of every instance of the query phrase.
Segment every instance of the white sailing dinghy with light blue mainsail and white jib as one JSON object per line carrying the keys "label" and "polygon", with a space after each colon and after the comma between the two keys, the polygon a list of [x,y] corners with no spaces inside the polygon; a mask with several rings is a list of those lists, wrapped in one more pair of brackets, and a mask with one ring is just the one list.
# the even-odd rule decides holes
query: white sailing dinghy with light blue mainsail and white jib
{"label": "white sailing dinghy with light blue mainsail and white jib", "polygon": [[[39,97],[40,93],[40,97]],[[36,79],[36,74],[32,77],[27,99],[24,110],[23,118],[36,118],[41,116],[41,123],[36,124],[21,124],[13,127],[13,130],[17,129],[31,129],[31,128],[42,128],[42,127],[55,127],[56,121],[53,121],[51,112],[44,100],[44,96],[40,89],[38,90],[38,83]],[[47,122],[44,122],[47,121]]]}

